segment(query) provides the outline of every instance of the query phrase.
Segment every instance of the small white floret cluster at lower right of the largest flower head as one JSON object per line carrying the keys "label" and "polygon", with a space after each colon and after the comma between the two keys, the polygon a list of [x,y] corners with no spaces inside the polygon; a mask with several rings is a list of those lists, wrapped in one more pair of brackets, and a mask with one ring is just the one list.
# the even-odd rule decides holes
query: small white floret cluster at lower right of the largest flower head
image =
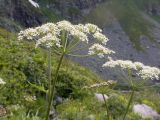
{"label": "small white floret cluster at lower right of the largest flower head", "polygon": [[104,57],[105,54],[112,54],[114,51],[102,46],[101,44],[95,43],[89,48],[89,55],[97,54],[100,58]]}

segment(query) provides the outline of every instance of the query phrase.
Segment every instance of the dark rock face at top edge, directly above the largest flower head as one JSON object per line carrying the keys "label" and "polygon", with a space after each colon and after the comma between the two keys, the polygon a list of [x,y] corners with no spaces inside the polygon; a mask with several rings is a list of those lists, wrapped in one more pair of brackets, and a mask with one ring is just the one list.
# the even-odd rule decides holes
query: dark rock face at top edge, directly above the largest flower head
{"label": "dark rock face at top edge, directly above the largest flower head", "polygon": [[71,21],[77,21],[85,14],[85,10],[92,9],[104,0],[55,0],[49,8],[57,14]]}

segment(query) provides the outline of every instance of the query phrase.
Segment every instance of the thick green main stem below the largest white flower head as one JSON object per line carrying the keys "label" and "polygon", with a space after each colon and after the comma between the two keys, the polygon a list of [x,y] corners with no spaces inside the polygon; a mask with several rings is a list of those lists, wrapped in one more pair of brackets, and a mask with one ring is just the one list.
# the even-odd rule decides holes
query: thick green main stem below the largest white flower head
{"label": "thick green main stem below the largest white flower head", "polygon": [[55,79],[52,82],[51,93],[50,93],[50,96],[49,96],[49,103],[48,103],[47,114],[46,114],[46,120],[49,120],[49,113],[50,113],[50,110],[51,110],[52,101],[53,101],[53,97],[54,97],[56,81],[58,79],[58,73],[59,73],[59,69],[60,69],[60,66],[62,64],[62,60],[63,60],[64,55],[65,55],[65,52],[62,53],[62,55],[61,55],[61,58],[59,60],[59,63],[58,63],[57,69],[56,69]]}

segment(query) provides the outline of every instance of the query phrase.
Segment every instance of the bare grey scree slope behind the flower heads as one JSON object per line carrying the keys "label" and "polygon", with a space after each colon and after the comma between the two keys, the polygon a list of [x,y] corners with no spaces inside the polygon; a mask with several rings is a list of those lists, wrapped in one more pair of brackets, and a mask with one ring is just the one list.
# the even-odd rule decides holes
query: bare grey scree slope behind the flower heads
{"label": "bare grey scree slope behind the flower heads", "polygon": [[[133,47],[132,42],[129,40],[128,35],[124,32],[119,22],[115,19],[109,26],[104,26],[104,33],[109,37],[110,41],[107,47],[114,50],[116,53],[111,55],[114,60],[133,60],[139,61],[146,65],[156,66],[160,68],[160,49],[156,47],[155,43],[150,42],[147,37],[141,36],[141,44],[145,52],[138,51]],[[160,28],[154,29],[154,35],[157,41],[160,40]],[[160,43],[159,43],[160,44]],[[86,51],[80,51],[86,53]],[[80,64],[89,67],[95,73],[101,75],[103,79],[117,80],[119,78],[117,71],[113,72],[111,69],[102,68],[102,65],[108,60],[105,58],[72,58]]]}

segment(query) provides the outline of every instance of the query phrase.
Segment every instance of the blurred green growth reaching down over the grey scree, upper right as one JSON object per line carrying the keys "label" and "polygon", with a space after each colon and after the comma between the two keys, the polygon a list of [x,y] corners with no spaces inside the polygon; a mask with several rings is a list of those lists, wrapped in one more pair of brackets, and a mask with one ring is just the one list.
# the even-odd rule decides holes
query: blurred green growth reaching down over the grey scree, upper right
{"label": "blurred green growth reaching down over the grey scree, upper right", "polygon": [[117,19],[130,37],[133,46],[138,50],[143,50],[140,36],[145,35],[151,41],[154,39],[149,30],[152,28],[152,24],[143,17],[141,12],[144,11],[145,5],[156,2],[158,0],[106,1],[91,11],[85,19],[100,26],[109,25],[114,19]]}

